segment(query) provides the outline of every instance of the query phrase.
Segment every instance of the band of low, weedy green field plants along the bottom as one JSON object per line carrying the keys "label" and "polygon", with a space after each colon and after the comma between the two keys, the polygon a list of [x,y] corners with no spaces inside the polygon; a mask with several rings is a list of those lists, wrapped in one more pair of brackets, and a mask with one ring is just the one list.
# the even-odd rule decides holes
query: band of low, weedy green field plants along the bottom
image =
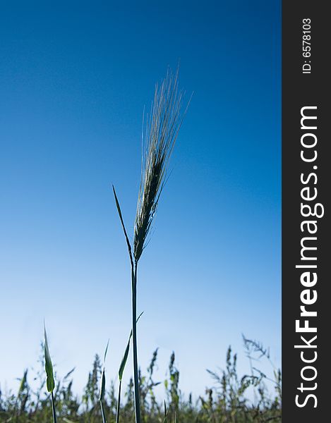
{"label": "band of low, weedy green field plants along the bottom", "polygon": [[[239,376],[236,368],[236,354],[229,348],[224,367],[215,372],[207,370],[211,376],[210,388],[198,397],[191,393],[184,395],[179,388],[180,372],[171,354],[167,377],[155,379],[157,350],[152,354],[145,372],[139,369],[140,418],[145,423],[275,423],[281,422],[282,379],[281,372],[270,361],[270,353],[256,341],[243,338],[243,345],[250,372]],[[258,364],[265,360],[270,372],[258,370]],[[40,356],[40,370],[32,373],[25,370],[20,379],[18,391],[0,393],[0,421],[20,423],[49,423],[53,419],[51,395],[47,391],[44,374],[44,355]],[[265,368],[265,366],[263,367]],[[100,386],[102,385],[103,364],[95,355],[92,369],[88,374],[83,395],[73,391],[72,369],[59,378],[54,372],[54,404],[59,423],[102,423],[100,407]],[[37,388],[30,386],[35,380]],[[162,384],[164,402],[157,400],[156,386]],[[133,423],[135,421],[133,379],[124,388],[122,400],[118,403],[118,381],[106,381],[104,387],[103,410],[108,423]],[[35,383],[34,383],[35,386]]]}

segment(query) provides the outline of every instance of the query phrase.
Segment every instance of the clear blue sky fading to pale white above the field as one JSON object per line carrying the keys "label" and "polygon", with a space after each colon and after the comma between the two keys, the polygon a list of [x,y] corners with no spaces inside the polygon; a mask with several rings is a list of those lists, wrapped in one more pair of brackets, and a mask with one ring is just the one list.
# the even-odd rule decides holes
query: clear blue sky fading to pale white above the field
{"label": "clear blue sky fading to pale white above the field", "polygon": [[[80,391],[130,330],[140,133],[180,61],[194,92],[140,262],[139,357],[171,351],[183,391],[211,385],[241,333],[280,365],[280,2],[32,1],[0,6],[1,386],[35,365],[42,321]],[[131,374],[131,363],[126,376]]]}

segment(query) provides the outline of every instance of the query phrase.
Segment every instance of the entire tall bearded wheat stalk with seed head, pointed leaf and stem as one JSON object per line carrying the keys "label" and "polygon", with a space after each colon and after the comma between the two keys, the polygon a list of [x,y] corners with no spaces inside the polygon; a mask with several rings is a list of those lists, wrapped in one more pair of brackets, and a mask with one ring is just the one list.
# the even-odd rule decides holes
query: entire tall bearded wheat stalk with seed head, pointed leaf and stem
{"label": "entire tall bearded wheat stalk with seed head, pointed leaf and stem", "polygon": [[119,200],[113,186],[116,207],[119,212],[131,262],[133,382],[136,423],[140,423],[137,350],[137,268],[138,261],[146,246],[152,221],[157,212],[160,194],[167,179],[169,158],[183,121],[183,114],[181,113],[182,99],[183,92],[178,89],[178,69],[175,74],[168,71],[167,77],[161,85],[156,85],[155,87],[154,102],[152,103],[150,119],[145,133],[145,153],[143,153],[140,177],[133,252],[124,226]]}

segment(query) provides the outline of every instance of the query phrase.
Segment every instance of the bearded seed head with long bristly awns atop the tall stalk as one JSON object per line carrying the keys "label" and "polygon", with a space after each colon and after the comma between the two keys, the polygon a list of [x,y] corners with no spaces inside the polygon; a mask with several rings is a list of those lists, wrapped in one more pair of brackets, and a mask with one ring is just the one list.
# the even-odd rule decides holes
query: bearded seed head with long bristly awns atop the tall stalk
{"label": "bearded seed head with long bristly awns atop the tall stalk", "polygon": [[168,71],[162,84],[156,85],[154,102],[145,133],[140,189],[135,220],[133,255],[136,263],[142,255],[146,238],[157,211],[167,167],[183,121],[183,92],[178,89],[178,71]]}

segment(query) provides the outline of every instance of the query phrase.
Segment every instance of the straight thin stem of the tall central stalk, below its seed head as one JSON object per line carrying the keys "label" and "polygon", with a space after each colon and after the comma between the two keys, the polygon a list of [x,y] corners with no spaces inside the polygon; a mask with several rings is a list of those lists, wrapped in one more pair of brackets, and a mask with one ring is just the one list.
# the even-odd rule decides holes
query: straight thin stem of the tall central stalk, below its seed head
{"label": "straight thin stem of the tall central stalk, below its seed head", "polygon": [[138,380],[138,351],[137,351],[137,263],[131,265],[132,281],[132,342],[133,342],[133,382],[135,395],[136,423],[140,423],[140,395]]}

